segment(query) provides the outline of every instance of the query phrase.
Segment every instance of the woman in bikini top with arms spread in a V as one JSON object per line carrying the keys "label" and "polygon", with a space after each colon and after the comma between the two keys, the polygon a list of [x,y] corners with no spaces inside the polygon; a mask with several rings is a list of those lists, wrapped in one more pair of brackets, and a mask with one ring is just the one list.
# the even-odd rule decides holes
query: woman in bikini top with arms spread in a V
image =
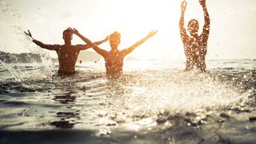
{"label": "woman in bikini top with arms spread in a V", "polygon": [[117,47],[120,44],[120,38],[121,34],[118,32],[114,32],[110,34],[109,36],[109,42],[111,46],[111,50],[107,51],[104,49],[99,48],[96,46],[96,44],[92,43],[89,39],[82,36],[78,30],[75,28],[68,28],[68,30],[76,35],[78,35],[83,41],[85,41],[87,44],[89,44],[98,54],[102,55],[102,57],[105,59],[105,66],[106,66],[106,74],[107,75],[114,75],[117,76],[119,74],[123,73],[123,60],[124,57],[131,53],[136,47],[138,47],[140,44],[145,42],[148,38],[154,36],[158,31],[151,31],[148,36],[144,37],[137,43],[133,44],[131,47],[118,50]]}

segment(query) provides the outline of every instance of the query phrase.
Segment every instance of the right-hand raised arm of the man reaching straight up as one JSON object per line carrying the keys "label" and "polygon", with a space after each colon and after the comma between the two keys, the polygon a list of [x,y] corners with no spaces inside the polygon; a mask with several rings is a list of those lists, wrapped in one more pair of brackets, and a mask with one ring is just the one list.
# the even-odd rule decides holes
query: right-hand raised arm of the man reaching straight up
{"label": "right-hand raised arm of the man reaching straight up", "polygon": [[208,11],[206,9],[206,0],[199,0],[200,5],[203,7],[203,12],[204,12],[204,26],[203,26],[203,34],[209,36],[209,31],[210,31],[210,17],[208,14]]}

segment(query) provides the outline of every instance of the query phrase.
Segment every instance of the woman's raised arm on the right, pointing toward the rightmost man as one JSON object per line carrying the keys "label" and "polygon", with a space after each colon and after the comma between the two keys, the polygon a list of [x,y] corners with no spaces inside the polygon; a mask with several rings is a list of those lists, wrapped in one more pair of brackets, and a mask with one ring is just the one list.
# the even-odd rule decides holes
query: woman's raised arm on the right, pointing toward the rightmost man
{"label": "woman's raised arm on the right, pointing toward the rightmost man", "polygon": [[143,39],[140,39],[137,43],[133,44],[127,49],[121,50],[121,53],[123,56],[126,56],[127,54],[131,53],[136,47],[138,47],[140,44],[144,43],[147,39],[154,36],[158,31],[151,31],[148,36],[144,37]]}

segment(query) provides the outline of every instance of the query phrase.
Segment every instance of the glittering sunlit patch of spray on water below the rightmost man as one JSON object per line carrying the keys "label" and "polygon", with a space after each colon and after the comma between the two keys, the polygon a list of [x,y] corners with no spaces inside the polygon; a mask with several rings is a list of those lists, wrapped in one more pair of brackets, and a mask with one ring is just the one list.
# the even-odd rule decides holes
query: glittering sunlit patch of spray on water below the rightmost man
{"label": "glittering sunlit patch of spray on water below the rightmost man", "polygon": [[[187,113],[195,114],[194,120],[201,121],[209,115],[218,116],[225,109],[246,110],[240,105],[249,102],[249,97],[256,93],[254,88],[243,90],[244,76],[229,81],[222,75],[200,74],[196,70],[135,73],[107,83],[109,95],[100,104],[99,116],[104,120],[99,123],[130,123],[148,117],[167,122],[171,117],[185,117]],[[239,80],[242,83],[237,85]],[[152,124],[155,121],[151,120]]]}

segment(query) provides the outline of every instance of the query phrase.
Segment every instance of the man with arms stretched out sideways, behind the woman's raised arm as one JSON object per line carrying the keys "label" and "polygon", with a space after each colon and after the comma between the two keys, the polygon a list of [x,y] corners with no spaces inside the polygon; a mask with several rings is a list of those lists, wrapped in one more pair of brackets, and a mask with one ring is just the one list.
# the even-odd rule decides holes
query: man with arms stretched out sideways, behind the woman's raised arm
{"label": "man with arms stretched out sideways, behind the woman's raised arm", "polygon": [[[28,33],[25,32],[28,36],[32,38],[32,35],[30,31],[28,30]],[[64,39],[64,45],[59,44],[43,44],[42,42],[37,41],[36,39],[33,39],[33,42],[37,44],[37,46],[41,48],[45,48],[48,50],[55,50],[58,54],[58,60],[59,60],[59,70],[57,72],[57,76],[69,76],[77,74],[78,72],[75,71],[75,63],[78,58],[78,54],[80,50],[86,50],[88,48],[91,48],[89,44],[77,44],[77,45],[71,45],[71,40],[73,38],[73,33],[71,33],[69,30],[63,31],[63,39]],[[107,36],[105,39],[99,42],[94,42],[96,45],[102,44],[103,42],[108,41],[109,36]]]}

